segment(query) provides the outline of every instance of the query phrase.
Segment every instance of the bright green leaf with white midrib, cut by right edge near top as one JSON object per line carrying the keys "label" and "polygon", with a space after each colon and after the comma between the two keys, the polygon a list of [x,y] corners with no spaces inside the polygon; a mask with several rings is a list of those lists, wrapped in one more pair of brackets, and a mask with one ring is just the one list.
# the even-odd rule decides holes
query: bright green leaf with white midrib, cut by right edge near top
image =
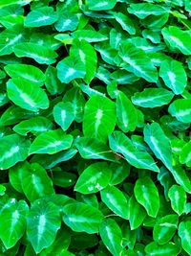
{"label": "bright green leaf with white midrib, cut by right edge near top", "polygon": [[181,52],[183,55],[191,55],[191,34],[189,31],[180,30],[179,27],[170,26],[161,30],[166,44],[173,52]]}

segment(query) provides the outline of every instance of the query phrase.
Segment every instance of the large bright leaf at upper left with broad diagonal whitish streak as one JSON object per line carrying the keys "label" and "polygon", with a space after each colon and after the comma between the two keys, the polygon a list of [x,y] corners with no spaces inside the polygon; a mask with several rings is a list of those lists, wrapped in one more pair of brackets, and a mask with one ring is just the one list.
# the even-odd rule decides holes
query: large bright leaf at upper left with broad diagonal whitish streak
{"label": "large bright leaf at upper left with broad diagonal whitish streak", "polygon": [[39,108],[49,107],[49,99],[43,89],[34,86],[31,81],[21,78],[11,79],[7,82],[8,97],[22,108],[36,112]]}

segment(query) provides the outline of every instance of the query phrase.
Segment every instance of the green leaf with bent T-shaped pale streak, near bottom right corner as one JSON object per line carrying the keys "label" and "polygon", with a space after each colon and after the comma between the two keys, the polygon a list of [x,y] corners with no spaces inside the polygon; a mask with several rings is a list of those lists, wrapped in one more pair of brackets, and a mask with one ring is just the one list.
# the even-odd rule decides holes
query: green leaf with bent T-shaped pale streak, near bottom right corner
{"label": "green leaf with bent T-shaped pale streak, near bottom right corner", "polygon": [[179,217],[175,214],[159,218],[153,229],[154,240],[158,244],[168,243],[174,237],[178,223]]}

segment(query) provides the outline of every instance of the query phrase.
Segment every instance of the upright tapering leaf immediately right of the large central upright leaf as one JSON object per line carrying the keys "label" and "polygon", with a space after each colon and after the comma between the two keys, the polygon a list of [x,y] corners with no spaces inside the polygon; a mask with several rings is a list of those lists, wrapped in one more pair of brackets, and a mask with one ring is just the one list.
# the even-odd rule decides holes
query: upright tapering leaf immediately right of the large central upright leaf
{"label": "upright tapering leaf immediately right of the large central upright leaf", "polygon": [[123,132],[134,131],[138,124],[136,108],[123,92],[117,92],[117,126]]}

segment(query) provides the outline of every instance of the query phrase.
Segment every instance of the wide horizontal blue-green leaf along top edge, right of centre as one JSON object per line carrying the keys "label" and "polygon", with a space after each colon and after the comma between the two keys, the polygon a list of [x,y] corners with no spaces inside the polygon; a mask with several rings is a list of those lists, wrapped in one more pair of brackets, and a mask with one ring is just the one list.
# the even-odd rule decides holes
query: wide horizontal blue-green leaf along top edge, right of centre
{"label": "wide horizontal blue-green leaf along top edge, right of centre", "polygon": [[132,13],[140,19],[144,19],[149,15],[161,15],[162,13],[168,12],[169,9],[166,7],[159,6],[157,4],[151,3],[138,3],[138,4],[130,4],[128,8],[128,12]]}

